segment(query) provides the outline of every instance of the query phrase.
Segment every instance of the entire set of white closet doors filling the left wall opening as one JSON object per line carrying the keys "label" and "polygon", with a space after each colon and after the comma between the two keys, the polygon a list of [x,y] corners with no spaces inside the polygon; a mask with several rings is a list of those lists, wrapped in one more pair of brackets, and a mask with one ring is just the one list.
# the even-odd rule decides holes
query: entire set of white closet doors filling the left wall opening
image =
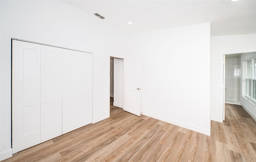
{"label": "entire set of white closet doors filling the left wall opening", "polygon": [[12,149],[92,123],[92,54],[12,40]]}

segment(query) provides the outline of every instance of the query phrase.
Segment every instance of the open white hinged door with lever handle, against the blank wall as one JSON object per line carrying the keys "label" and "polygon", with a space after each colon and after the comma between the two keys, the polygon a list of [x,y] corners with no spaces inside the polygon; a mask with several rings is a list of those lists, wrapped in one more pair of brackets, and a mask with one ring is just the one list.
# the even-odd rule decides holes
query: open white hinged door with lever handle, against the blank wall
{"label": "open white hinged door with lever handle, against the blank wall", "polygon": [[124,110],[140,116],[140,58],[124,59]]}

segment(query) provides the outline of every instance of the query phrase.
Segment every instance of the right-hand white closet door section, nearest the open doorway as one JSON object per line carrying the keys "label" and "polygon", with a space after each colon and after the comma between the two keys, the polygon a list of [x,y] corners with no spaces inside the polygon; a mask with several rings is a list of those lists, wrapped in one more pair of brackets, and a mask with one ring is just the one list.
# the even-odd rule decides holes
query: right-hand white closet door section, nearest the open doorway
{"label": "right-hand white closet door section, nearest the open doorway", "polygon": [[62,133],[92,123],[92,54],[63,50]]}

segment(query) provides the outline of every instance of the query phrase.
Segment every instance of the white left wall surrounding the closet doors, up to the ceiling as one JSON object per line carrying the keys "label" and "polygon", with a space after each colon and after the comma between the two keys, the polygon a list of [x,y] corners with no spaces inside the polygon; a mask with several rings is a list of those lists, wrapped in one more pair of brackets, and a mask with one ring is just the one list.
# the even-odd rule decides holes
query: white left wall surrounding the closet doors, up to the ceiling
{"label": "white left wall surrounding the closet doors, up to the ceiling", "polygon": [[109,117],[109,58],[113,53],[119,56],[125,49],[123,33],[62,1],[1,0],[0,10],[1,160],[12,155],[11,38],[93,52],[93,122]]}

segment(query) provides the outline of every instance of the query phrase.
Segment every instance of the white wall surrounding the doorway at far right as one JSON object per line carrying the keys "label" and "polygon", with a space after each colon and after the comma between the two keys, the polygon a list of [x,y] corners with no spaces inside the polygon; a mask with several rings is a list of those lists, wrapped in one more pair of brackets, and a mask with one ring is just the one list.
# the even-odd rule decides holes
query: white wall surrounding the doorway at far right
{"label": "white wall surrounding the doorway at far right", "polygon": [[256,34],[211,37],[211,83],[210,110],[211,120],[223,121],[223,54],[256,51]]}

